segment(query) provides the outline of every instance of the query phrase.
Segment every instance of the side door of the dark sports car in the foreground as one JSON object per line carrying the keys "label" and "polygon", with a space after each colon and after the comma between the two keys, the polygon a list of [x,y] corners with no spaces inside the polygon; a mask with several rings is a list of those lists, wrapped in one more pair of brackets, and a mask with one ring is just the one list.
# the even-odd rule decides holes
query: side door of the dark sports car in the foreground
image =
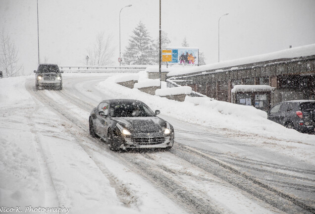
{"label": "side door of the dark sports car in the foreground", "polygon": [[96,114],[96,132],[103,139],[106,139],[107,136],[108,107],[108,103],[101,103],[98,106],[98,113]]}

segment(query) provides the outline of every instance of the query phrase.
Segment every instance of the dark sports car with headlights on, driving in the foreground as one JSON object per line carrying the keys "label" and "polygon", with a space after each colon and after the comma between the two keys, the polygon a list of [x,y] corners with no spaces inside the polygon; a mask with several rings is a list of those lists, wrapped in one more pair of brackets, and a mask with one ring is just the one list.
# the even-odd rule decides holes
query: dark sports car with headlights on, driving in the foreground
{"label": "dark sports car with headlights on, driving in the foreground", "polygon": [[174,144],[171,124],[157,117],[146,104],[138,100],[105,100],[89,117],[92,137],[107,141],[112,150],[128,148],[167,148]]}

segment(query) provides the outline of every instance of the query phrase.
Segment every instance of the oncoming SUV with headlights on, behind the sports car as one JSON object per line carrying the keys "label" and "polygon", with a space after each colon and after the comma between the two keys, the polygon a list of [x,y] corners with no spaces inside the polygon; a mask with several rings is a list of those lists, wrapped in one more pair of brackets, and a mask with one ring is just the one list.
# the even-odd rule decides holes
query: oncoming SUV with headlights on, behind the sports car
{"label": "oncoming SUV with headlights on, behind the sports car", "polygon": [[59,70],[56,64],[39,64],[36,74],[35,86],[36,89],[40,88],[54,88],[56,90],[62,89],[62,76],[63,71]]}

